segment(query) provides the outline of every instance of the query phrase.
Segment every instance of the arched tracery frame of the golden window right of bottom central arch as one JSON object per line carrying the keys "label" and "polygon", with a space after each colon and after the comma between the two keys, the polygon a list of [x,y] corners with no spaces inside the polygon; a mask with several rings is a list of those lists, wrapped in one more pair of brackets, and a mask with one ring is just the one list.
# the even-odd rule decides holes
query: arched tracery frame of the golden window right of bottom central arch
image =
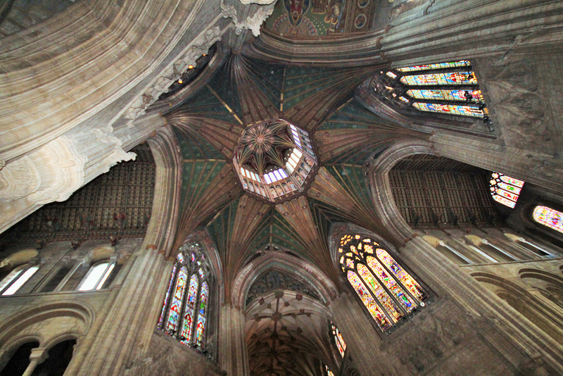
{"label": "arched tracery frame of the golden window right of bottom central arch", "polygon": [[[354,254],[350,249],[350,245],[356,246],[361,243],[362,248],[365,249],[365,240],[372,242],[373,251],[365,250],[360,252],[357,249],[358,252]],[[418,308],[426,305],[425,301],[429,299],[429,293],[426,292],[426,289],[422,287],[422,284],[404,265],[398,263],[396,258],[387,251],[386,247],[379,245],[373,237],[364,234],[344,234],[339,239],[339,242],[336,257],[343,272],[343,277],[348,282],[350,288],[358,295],[362,306],[364,306],[369,316],[372,317],[375,326],[381,332],[388,332],[391,328],[396,327],[401,320],[414,314]],[[379,250],[386,255],[386,260],[390,260],[393,262],[392,265],[396,265],[394,267],[396,272],[391,270],[381,257],[377,255]],[[372,264],[379,265],[379,272],[383,272],[387,277],[390,277],[383,278],[387,283],[391,284],[391,287],[378,277],[378,272],[372,268],[372,265],[367,260],[368,257],[374,258]],[[358,269],[358,265],[363,265],[362,270],[369,270],[372,273],[373,278],[370,280],[370,283],[374,287],[373,289],[370,288],[370,284],[362,277],[362,272]],[[362,282],[363,287],[359,286],[359,284],[358,289],[354,287],[350,277],[348,277],[350,275],[349,272],[353,272],[353,275]],[[398,277],[398,273],[403,273],[407,278],[410,278],[410,287],[402,282],[401,277]],[[396,285],[400,289],[396,289]],[[391,289],[393,289],[394,293]],[[394,312],[392,311],[393,309],[395,310]]]}

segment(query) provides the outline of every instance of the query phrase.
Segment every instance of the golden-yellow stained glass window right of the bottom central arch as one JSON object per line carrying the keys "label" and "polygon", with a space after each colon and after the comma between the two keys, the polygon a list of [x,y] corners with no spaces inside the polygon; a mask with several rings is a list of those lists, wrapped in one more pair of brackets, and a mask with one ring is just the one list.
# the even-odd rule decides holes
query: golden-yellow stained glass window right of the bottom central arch
{"label": "golden-yellow stained glass window right of the bottom central arch", "polygon": [[382,331],[424,306],[424,289],[377,242],[345,235],[340,244],[341,268]]}

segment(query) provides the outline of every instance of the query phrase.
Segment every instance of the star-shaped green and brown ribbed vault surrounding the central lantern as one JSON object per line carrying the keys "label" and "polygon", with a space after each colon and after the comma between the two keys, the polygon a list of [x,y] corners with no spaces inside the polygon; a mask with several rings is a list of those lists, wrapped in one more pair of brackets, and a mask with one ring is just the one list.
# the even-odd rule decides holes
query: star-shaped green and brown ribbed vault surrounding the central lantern
{"label": "star-shaped green and brown ribbed vault surrounding the central lantern", "polygon": [[[205,226],[221,257],[225,291],[255,251],[270,244],[336,280],[327,242],[336,221],[389,237],[374,211],[363,165],[397,139],[428,134],[381,119],[354,99],[355,87],[376,70],[282,66],[234,55],[203,89],[165,114],[184,161],[178,246]],[[270,155],[261,159],[255,151],[266,146]],[[252,158],[241,175],[236,161],[246,161],[246,150]],[[269,191],[277,184],[265,176],[269,171],[285,166],[288,175],[295,172],[291,158],[301,164],[296,150],[317,163],[300,189],[262,194],[262,187]],[[244,187],[244,180],[255,188]]]}

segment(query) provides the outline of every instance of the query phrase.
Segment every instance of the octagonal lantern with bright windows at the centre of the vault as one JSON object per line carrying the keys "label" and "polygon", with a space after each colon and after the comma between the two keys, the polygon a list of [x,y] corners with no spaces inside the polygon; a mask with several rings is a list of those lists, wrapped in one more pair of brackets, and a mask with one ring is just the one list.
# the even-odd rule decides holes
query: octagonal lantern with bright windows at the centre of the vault
{"label": "octagonal lantern with bright windows at the centre of the vault", "polygon": [[277,202],[305,190],[317,158],[308,132],[274,119],[244,130],[233,164],[246,192]]}

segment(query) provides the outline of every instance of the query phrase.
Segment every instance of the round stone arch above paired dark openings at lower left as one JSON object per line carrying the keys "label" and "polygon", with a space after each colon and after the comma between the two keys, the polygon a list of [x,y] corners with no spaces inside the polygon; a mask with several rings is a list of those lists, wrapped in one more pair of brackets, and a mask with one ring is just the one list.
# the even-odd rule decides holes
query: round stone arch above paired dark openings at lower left
{"label": "round stone arch above paired dark openings at lower left", "polygon": [[80,340],[94,320],[94,310],[85,303],[48,303],[37,306],[0,324],[1,349],[13,349],[30,339],[40,347],[65,339]]}

